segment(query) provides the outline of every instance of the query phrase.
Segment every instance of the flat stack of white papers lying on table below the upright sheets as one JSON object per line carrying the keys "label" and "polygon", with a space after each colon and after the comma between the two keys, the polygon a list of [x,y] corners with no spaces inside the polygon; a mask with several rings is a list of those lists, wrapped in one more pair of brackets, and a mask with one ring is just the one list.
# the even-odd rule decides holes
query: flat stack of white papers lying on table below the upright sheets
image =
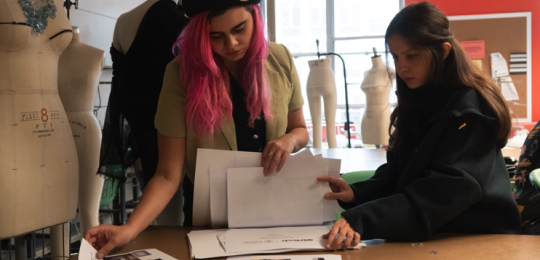
{"label": "flat stack of white papers lying on table below the upright sheets", "polygon": [[[188,234],[191,258],[203,259],[292,251],[323,251],[331,225],[202,230]],[[364,247],[360,244],[357,248]]]}

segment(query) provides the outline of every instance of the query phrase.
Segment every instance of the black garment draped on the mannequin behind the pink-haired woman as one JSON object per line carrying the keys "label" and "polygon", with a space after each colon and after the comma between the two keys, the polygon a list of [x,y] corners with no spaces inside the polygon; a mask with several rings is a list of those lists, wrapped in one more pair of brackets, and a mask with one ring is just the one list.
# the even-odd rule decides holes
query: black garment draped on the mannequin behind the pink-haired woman
{"label": "black garment draped on the mannequin behind the pink-haired woman", "polygon": [[[186,20],[175,2],[157,1],[145,13],[127,53],[124,55],[111,47],[113,78],[103,127],[100,166],[131,165],[125,156],[124,118],[132,131],[156,132],[154,116],[165,67],[174,59],[172,47]],[[133,147],[137,155],[135,145]]]}

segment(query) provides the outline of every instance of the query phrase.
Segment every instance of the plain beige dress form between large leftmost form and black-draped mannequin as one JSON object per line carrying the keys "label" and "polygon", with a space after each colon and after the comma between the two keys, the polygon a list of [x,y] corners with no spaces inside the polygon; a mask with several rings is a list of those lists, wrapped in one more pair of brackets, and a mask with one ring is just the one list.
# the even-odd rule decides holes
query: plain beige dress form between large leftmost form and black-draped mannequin
{"label": "plain beige dress form between large leftmost form and black-draped mannequin", "polygon": [[103,178],[97,175],[101,129],[92,114],[104,51],[80,42],[73,27],[71,44],[60,56],[58,91],[75,139],[79,156],[79,216],[81,233],[99,225],[98,210]]}

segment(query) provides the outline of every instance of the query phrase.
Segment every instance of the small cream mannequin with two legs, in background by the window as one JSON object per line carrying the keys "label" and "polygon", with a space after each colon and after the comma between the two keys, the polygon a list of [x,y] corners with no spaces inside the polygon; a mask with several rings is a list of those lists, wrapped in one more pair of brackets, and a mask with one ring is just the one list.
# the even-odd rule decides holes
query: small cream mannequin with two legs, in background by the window
{"label": "small cream mannequin with two legs, in background by the window", "polygon": [[322,142],[321,97],[324,100],[328,148],[336,148],[336,80],[330,68],[330,59],[310,60],[308,64],[310,70],[306,91],[313,122],[313,148],[321,148]]}

